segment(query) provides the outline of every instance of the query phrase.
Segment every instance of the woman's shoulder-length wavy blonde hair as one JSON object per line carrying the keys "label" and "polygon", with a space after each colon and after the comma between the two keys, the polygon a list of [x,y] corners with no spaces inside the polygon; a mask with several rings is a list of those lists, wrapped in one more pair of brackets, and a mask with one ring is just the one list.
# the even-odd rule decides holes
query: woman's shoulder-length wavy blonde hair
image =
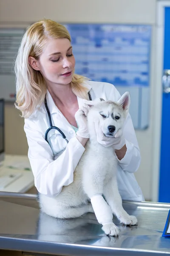
{"label": "woman's shoulder-length wavy blonde hair", "polygon": [[[28,27],[18,50],[15,61],[16,103],[15,107],[28,118],[40,106],[45,98],[46,84],[40,71],[34,70],[28,63],[28,57],[38,59],[48,38],[67,38],[71,36],[65,26],[53,20],[40,20]],[[73,75],[71,88],[75,95],[88,99],[88,89],[83,83],[84,76]]]}

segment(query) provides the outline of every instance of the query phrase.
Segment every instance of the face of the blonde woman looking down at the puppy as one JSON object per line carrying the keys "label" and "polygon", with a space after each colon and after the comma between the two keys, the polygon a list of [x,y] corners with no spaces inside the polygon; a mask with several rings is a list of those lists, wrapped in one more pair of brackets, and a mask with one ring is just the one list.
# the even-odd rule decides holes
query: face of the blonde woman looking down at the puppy
{"label": "face of the blonde woman looking down at the puppy", "polygon": [[48,39],[37,61],[37,70],[42,73],[47,86],[70,84],[74,67],[75,59],[70,41],[67,38]]}

